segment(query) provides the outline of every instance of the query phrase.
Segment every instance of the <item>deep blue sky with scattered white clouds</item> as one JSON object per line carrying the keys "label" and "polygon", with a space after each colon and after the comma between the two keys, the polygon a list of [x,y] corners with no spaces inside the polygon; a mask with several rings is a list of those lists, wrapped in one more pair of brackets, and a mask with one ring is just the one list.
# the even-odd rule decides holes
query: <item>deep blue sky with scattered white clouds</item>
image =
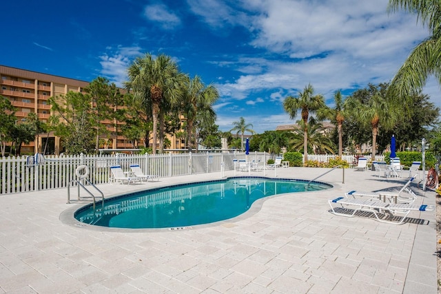
{"label": "deep blue sky with scattered white clouds", "polygon": [[[116,85],[149,52],[220,92],[223,131],[240,116],[262,133],[294,123],[284,99],[311,83],[332,106],[368,83],[389,82],[427,36],[388,0],[92,0],[2,3],[0,64]],[[424,89],[441,106],[433,79]]]}

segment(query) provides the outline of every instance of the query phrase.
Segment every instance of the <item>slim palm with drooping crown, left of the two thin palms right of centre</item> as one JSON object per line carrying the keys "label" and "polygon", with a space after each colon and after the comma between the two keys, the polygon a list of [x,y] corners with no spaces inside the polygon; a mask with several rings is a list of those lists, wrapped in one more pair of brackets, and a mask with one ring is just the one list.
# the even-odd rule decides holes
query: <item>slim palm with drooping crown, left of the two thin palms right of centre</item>
{"label": "slim palm with drooping crown, left of the two thin palms right of centre", "polygon": [[321,94],[314,95],[314,87],[308,84],[303,92],[299,92],[297,97],[288,96],[283,101],[283,107],[289,114],[291,119],[294,119],[297,115],[298,109],[301,109],[302,121],[303,121],[303,156],[305,162],[308,160],[308,136],[307,125],[309,114],[315,113],[318,109],[325,107],[325,101]]}

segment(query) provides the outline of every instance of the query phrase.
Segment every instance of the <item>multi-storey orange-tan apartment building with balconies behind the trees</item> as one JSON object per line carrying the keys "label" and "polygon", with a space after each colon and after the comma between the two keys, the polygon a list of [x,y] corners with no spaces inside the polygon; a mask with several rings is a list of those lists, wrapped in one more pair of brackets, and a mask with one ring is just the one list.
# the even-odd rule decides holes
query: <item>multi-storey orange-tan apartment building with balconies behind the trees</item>
{"label": "multi-storey orange-tan apartment building with balconies behind the trees", "polygon": [[[28,114],[35,113],[39,119],[46,123],[51,116],[51,105],[48,103],[50,97],[64,96],[68,92],[82,92],[89,82],[79,81],[73,78],[62,76],[53,76],[30,70],[21,70],[15,67],[0,65],[0,95],[8,98],[12,105],[16,107],[17,122],[26,119]],[[116,121],[106,120],[102,122],[107,129],[114,131]],[[123,136],[108,135],[102,138],[101,148],[125,148],[130,149],[138,147],[139,142],[131,142]],[[169,137],[172,143],[172,149],[183,149],[184,141],[180,138]],[[48,144],[46,144],[46,141]],[[151,145],[151,144],[150,144]],[[59,136],[53,132],[49,134],[39,134],[34,142],[21,147],[23,154],[33,154],[43,152],[46,146],[45,154],[60,154],[63,151]]]}

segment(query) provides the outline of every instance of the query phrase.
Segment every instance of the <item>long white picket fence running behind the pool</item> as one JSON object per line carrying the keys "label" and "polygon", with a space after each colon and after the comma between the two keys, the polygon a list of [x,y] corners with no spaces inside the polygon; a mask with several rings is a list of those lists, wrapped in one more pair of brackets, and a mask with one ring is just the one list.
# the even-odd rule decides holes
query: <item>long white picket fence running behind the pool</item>
{"label": "long white picket fence running behind the pool", "polygon": [[[160,178],[186,176],[192,174],[211,173],[216,171],[231,171],[234,169],[234,159],[246,159],[254,162],[267,162],[274,155],[265,152],[244,153],[204,153],[196,154],[156,154],[156,155],[94,155],[94,156],[21,156],[0,158],[0,194],[18,193],[23,191],[38,191],[57,189],[76,185],[76,167],[87,165],[90,169],[88,180],[93,184],[103,184],[111,180],[110,167],[121,165],[125,171],[130,171],[131,164],[140,165],[144,174]],[[309,154],[309,160],[328,162],[336,155]],[[353,162],[353,155],[343,156],[343,160]],[[370,158],[370,157],[369,157]],[[384,156],[376,156],[376,160],[384,160]]]}

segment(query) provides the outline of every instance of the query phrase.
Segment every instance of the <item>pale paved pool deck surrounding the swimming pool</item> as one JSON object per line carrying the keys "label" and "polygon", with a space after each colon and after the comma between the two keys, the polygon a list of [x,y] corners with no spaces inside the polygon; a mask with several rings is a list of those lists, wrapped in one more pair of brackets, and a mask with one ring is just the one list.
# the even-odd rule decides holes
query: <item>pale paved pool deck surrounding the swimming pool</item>
{"label": "pale paved pool deck surrounding the swimming pool", "polygon": [[[265,174],[311,180],[327,170]],[[99,188],[107,198],[221,176]],[[412,212],[424,223],[402,225],[329,213],[327,200],[345,191],[398,190],[406,178],[345,169],[342,183],[336,169],[319,180],[334,189],[258,200],[238,218],[183,230],[80,224],[65,212],[83,205],[66,204],[67,189],[0,195],[0,293],[438,293],[435,211]],[[435,204],[419,181],[411,186],[416,203]]]}

